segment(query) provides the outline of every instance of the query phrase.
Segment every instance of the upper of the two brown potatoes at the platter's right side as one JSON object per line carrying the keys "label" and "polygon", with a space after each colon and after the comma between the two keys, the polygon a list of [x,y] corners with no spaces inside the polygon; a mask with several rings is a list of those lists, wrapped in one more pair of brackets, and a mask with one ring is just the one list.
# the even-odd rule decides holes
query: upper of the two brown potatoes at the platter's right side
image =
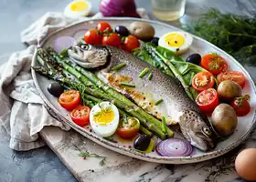
{"label": "upper of the two brown potatoes at the platter's right side", "polygon": [[242,88],[236,82],[225,80],[218,86],[218,96],[221,100],[231,101],[235,97],[241,96]]}

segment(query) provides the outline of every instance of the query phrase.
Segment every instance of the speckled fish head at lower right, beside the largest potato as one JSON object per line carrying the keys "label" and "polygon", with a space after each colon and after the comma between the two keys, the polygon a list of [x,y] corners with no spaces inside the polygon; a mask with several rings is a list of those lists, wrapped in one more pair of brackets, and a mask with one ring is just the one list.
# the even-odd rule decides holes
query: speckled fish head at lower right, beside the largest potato
{"label": "speckled fish head at lower right, beside the largest potato", "polygon": [[216,147],[216,135],[207,116],[193,110],[183,111],[179,117],[179,126],[192,146],[202,151]]}

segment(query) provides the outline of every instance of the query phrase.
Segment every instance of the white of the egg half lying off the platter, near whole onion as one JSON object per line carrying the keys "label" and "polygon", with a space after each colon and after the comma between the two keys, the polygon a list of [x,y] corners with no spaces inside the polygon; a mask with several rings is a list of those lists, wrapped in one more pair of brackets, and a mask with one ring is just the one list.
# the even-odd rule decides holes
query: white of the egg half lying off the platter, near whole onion
{"label": "white of the egg half lying off the platter, near whole onion", "polygon": [[[76,4],[77,2],[85,2],[88,6],[82,11],[72,11],[71,10],[71,5]],[[86,0],[75,0],[71,1],[69,5],[66,6],[64,9],[64,15],[69,17],[69,18],[80,18],[89,15],[91,12],[91,2],[86,1]]]}

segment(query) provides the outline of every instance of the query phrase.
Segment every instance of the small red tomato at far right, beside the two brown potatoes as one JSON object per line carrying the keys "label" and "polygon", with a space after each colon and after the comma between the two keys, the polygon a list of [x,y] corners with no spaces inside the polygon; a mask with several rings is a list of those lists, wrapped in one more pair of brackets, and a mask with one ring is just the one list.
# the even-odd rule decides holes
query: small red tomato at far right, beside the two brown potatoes
{"label": "small red tomato at far right, beside the two brown potatoes", "polygon": [[251,111],[251,106],[248,102],[250,99],[249,95],[240,96],[234,98],[231,102],[231,106],[235,109],[237,116],[246,116]]}

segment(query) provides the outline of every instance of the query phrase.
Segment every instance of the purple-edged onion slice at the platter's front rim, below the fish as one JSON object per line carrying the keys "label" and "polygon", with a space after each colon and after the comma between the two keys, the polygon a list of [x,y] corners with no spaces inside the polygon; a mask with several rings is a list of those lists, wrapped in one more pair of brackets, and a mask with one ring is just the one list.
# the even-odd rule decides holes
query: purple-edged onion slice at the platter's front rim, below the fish
{"label": "purple-edged onion slice at the platter's front rim, below the fish", "polygon": [[187,140],[174,137],[159,142],[155,151],[162,157],[187,157],[192,153],[193,147]]}

